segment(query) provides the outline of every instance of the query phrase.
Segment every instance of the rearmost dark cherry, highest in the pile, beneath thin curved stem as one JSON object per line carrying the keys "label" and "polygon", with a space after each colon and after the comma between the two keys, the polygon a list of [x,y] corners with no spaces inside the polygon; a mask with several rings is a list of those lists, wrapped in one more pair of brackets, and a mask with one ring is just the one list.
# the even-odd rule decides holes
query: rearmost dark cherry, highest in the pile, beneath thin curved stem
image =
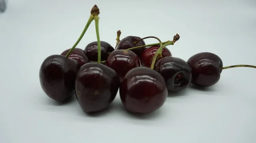
{"label": "rearmost dark cherry, highest in the pile, beneath thin curved stem", "polygon": [[[134,42],[138,41],[139,39],[141,39],[138,36],[127,36],[124,39],[122,39],[119,44],[117,45],[116,49],[129,49],[129,48],[133,48],[133,47],[137,47],[137,46],[142,46],[145,45],[144,40],[140,40],[139,42],[137,42],[136,44],[134,44]],[[144,48],[138,48],[138,49],[134,49],[132,50],[137,56],[140,57],[142,51]]]}

